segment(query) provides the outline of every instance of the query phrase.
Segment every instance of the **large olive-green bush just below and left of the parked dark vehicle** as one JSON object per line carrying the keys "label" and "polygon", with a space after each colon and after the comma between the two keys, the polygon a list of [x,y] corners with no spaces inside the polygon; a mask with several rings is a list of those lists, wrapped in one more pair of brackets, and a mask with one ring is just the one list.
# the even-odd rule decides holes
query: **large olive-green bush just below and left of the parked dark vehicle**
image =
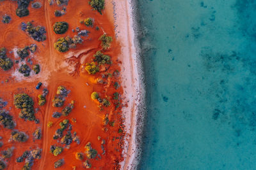
{"label": "large olive-green bush just below and left of the parked dark vehicle", "polygon": [[35,120],[34,115],[34,102],[28,94],[16,94],[14,96],[14,105],[16,108],[21,109],[19,113],[20,118],[24,118],[25,120]]}

